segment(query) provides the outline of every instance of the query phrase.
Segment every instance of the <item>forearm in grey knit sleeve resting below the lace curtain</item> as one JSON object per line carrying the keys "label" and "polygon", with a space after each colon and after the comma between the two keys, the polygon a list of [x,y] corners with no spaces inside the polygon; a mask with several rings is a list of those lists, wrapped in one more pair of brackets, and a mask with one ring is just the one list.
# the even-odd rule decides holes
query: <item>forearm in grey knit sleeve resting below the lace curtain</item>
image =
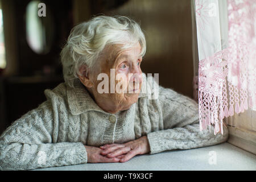
{"label": "forearm in grey knit sleeve resting below the lace curtain", "polygon": [[220,133],[214,135],[213,130],[214,127],[211,126],[211,133],[209,130],[200,131],[199,123],[194,123],[184,127],[154,131],[147,134],[150,154],[166,150],[211,146],[228,140],[228,129],[225,126],[223,135]]}

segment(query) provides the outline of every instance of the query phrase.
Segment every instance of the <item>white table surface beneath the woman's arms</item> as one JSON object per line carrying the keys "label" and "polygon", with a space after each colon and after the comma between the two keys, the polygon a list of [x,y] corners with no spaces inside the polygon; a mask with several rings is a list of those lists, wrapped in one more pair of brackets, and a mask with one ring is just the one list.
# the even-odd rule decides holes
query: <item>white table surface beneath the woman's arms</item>
{"label": "white table surface beneath the woman's arms", "polygon": [[[210,164],[210,151],[216,164]],[[211,153],[210,153],[211,154]],[[126,163],[87,163],[73,166],[38,168],[47,171],[166,171],[166,170],[256,170],[256,155],[229,143],[191,150],[164,151],[137,155]]]}

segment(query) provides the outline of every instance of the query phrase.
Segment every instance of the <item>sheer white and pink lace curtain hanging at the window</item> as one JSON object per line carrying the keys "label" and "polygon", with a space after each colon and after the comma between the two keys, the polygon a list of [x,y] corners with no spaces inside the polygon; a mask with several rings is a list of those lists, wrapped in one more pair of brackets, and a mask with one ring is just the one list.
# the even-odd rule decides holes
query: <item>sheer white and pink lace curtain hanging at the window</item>
{"label": "sheer white and pink lace curtain hanging at the window", "polygon": [[[256,108],[256,0],[191,0],[200,130]],[[209,127],[210,129],[210,127]]]}

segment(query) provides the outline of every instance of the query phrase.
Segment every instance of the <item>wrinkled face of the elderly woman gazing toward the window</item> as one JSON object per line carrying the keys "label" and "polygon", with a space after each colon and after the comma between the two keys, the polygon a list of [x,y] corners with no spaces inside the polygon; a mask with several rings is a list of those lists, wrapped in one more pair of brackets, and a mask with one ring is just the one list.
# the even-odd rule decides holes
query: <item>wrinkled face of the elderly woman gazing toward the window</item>
{"label": "wrinkled face of the elderly woman gazing toward the window", "polygon": [[[101,71],[92,76],[94,86],[89,89],[94,101],[103,110],[117,113],[129,109],[138,101],[142,85],[140,53],[139,43],[125,50],[121,50],[121,45],[117,44],[104,49],[98,61]],[[106,73],[108,81],[102,77],[97,80],[100,73]],[[102,93],[102,89],[105,93]]]}

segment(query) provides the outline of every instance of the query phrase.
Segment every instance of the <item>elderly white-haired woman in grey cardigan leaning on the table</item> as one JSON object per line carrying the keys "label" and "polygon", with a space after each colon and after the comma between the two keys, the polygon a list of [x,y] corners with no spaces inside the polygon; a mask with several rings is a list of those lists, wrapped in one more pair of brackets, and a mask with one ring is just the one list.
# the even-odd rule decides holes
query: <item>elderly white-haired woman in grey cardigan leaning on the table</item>
{"label": "elderly white-haired woman in grey cardigan leaning on the table", "polygon": [[[141,28],[125,16],[97,16],[73,28],[61,51],[65,82],[45,90],[47,100],[1,135],[1,169],[127,162],[225,142],[225,127],[223,135],[200,131],[191,98],[162,86],[151,97],[156,81],[141,71],[145,52]],[[109,78],[103,84],[102,75]]]}

